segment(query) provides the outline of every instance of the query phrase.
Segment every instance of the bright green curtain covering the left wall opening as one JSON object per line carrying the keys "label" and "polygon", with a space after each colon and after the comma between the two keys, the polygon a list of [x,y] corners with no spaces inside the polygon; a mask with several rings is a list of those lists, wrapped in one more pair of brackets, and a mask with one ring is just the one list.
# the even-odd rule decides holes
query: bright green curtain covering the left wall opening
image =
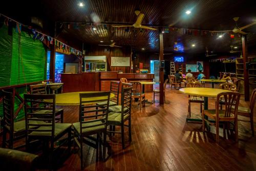
{"label": "bright green curtain covering the left wall opening", "polygon": [[[26,32],[16,33],[13,28],[12,36],[8,35],[8,27],[0,28],[0,87],[30,83],[46,79],[47,49],[40,40],[34,40]],[[20,96],[26,93],[28,87],[16,88]],[[14,111],[19,101],[15,99]],[[0,117],[3,107],[0,106]],[[20,111],[17,120],[24,117]]]}

